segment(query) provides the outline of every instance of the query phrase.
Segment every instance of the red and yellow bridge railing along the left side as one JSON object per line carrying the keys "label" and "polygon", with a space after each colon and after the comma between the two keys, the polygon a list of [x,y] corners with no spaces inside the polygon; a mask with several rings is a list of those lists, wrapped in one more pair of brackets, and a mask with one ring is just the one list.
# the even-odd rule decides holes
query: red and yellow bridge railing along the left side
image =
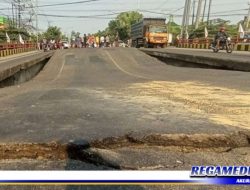
{"label": "red and yellow bridge railing along the left side", "polygon": [[29,51],[34,51],[37,49],[35,43],[26,42],[21,43],[3,43],[0,44],[0,57],[5,57],[17,53],[24,53]]}

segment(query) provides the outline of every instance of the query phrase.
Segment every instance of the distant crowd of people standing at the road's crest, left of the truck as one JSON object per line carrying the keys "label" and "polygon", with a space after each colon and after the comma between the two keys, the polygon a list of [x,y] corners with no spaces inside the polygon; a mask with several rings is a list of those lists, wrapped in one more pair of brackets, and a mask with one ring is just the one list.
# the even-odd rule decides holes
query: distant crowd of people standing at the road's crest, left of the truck
{"label": "distant crowd of people standing at the road's crest, left of the truck", "polygon": [[110,38],[109,36],[93,36],[84,34],[83,37],[77,37],[71,42],[71,47],[75,48],[101,48],[101,47],[110,47]]}

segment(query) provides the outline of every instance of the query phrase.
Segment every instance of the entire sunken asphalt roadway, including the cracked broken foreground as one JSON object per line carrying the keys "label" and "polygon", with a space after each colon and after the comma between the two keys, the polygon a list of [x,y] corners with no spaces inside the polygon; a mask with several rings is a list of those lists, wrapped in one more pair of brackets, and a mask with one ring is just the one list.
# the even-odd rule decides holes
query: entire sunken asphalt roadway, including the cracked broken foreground
{"label": "entire sunken asphalt roadway, including the cracked broken foreground", "polygon": [[[190,170],[192,165],[249,165],[249,139],[241,139],[250,127],[249,73],[169,64],[132,48],[57,51],[31,81],[0,89],[0,169]],[[232,133],[239,135],[227,136]],[[147,135],[152,139],[143,138]],[[145,144],[133,144],[137,138]],[[164,138],[167,146],[161,142]],[[216,139],[222,142],[218,146]],[[74,149],[96,140],[97,146]],[[239,146],[231,147],[227,140],[240,142]],[[197,147],[207,141],[214,146]]]}

